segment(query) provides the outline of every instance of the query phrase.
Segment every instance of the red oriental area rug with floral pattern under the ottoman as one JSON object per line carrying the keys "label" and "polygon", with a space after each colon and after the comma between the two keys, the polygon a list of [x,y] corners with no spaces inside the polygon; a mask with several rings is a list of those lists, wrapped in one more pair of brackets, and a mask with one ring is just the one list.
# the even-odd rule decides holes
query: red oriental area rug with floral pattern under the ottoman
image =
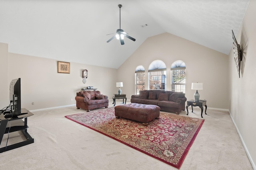
{"label": "red oriental area rug with floral pattern under the ottoman", "polygon": [[114,107],[65,117],[178,169],[204,123],[204,119],[160,112],[159,119],[145,126],[116,118]]}

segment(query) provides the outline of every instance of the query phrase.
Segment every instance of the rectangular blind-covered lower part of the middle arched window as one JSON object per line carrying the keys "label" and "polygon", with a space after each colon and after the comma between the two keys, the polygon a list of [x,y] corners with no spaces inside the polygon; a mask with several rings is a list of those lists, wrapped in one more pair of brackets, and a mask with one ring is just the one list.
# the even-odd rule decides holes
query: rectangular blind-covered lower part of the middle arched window
{"label": "rectangular blind-covered lower part of the middle arched window", "polygon": [[148,72],[150,90],[166,90],[166,70]]}

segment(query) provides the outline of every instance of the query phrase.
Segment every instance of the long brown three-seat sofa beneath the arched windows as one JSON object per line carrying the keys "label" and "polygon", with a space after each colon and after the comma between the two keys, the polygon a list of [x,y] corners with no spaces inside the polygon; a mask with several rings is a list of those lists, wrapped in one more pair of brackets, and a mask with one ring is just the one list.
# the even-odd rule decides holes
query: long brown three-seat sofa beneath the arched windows
{"label": "long brown three-seat sofa beneath the arched windows", "polygon": [[187,98],[182,92],[163,90],[140,90],[140,94],[132,95],[131,103],[152,104],[160,107],[162,111],[179,114],[185,110]]}

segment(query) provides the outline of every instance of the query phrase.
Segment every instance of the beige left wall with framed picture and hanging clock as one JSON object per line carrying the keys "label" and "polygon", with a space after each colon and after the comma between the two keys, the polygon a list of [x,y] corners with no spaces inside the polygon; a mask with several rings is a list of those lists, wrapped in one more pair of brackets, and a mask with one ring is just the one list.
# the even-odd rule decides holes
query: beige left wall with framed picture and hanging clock
{"label": "beige left wall with framed picture and hanging clock", "polygon": [[[6,44],[0,43],[1,53],[8,51]],[[8,46],[7,46],[8,47]],[[112,100],[112,94],[117,91],[116,69],[70,63],[70,74],[57,72],[57,61],[41,57],[6,53],[7,74],[1,75],[6,80],[1,82],[1,108],[9,104],[9,84],[14,78],[21,78],[21,106],[29,109],[44,109],[76,104],[76,92],[86,86],[94,86]],[[68,62],[68,61],[67,61]],[[7,64],[6,64],[7,65]],[[86,84],[82,82],[82,70],[88,70]],[[34,105],[32,105],[34,102]]]}

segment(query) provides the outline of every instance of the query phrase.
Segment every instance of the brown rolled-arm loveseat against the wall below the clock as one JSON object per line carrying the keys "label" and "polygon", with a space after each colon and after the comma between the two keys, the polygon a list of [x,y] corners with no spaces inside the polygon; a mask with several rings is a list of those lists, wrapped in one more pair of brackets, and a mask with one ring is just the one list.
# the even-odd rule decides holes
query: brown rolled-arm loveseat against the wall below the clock
{"label": "brown rolled-arm loveseat against the wall below the clock", "polygon": [[76,108],[98,109],[100,107],[108,107],[108,96],[100,94],[100,91],[81,91],[76,93]]}

